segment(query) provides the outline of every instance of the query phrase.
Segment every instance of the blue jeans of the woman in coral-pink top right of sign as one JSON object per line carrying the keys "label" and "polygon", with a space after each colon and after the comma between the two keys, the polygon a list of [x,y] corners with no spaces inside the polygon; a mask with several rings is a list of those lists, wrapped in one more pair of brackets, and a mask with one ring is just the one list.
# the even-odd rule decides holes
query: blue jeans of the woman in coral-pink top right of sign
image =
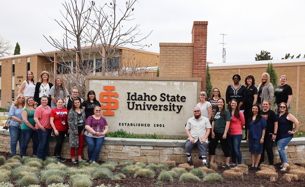
{"label": "blue jeans of the woman in coral-pink top right of sign", "polygon": [[231,149],[232,163],[241,164],[242,163],[242,153],[240,152],[240,142],[242,141],[242,134],[229,135],[229,146]]}

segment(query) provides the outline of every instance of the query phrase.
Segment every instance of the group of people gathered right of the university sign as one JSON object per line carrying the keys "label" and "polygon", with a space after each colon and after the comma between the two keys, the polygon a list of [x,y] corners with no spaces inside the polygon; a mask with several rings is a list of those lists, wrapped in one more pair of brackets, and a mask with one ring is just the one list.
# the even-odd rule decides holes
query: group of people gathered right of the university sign
{"label": "group of people gathered right of the university sign", "polygon": [[[258,170],[260,163],[264,162],[265,150],[269,164],[273,165],[272,146],[275,140],[282,162],[281,170],[285,171],[289,165],[285,146],[299,127],[299,121],[289,113],[292,89],[286,83],[287,77],[281,76],[280,85],[276,90],[266,72],[263,73],[258,87],[255,87],[255,79],[251,74],[244,79],[246,86],[240,83],[241,77],[238,74],[235,74],[232,80],[233,84],[226,90],[226,101],[221,98],[218,88],[213,89],[209,99],[205,92],[200,93],[201,102],[194,108],[194,116],[189,118],[185,125],[188,135],[185,144],[188,164],[192,164],[192,148],[197,146],[199,159],[203,160],[203,166],[209,167],[210,164],[206,162],[208,141],[210,141],[211,163],[214,162],[215,150],[220,141],[225,157],[222,168],[236,167],[237,164],[242,163],[240,143],[246,140],[249,143],[252,161],[249,170]],[[276,113],[271,110],[274,96]],[[225,103],[228,104],[228,109],[225,108]],[[246,129],[244,139],[242,139],[243,126]]]}

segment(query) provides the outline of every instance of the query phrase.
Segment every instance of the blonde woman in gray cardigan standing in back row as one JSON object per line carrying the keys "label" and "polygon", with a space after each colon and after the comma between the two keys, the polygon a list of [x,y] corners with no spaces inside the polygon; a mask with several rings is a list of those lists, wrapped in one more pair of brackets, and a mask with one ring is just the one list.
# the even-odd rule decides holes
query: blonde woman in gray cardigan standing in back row
{"label": "blonde woman in gray cardigan standing in back row", "polygon": [[273,95],[274,88],[270,83],[270,75],[269,73],[264,72],[262,75],[262,79],[260,80],[260,85],[257,87],[257,104],[260,106],[260,110],[263,110],[262,102],[264,100],[269,101],[269,108],[273,104]]}

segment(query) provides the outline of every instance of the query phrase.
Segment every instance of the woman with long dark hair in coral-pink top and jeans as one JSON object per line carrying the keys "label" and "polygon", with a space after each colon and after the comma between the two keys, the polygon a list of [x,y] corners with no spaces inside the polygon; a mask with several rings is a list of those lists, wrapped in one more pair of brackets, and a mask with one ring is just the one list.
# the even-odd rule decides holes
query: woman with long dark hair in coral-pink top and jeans
{"label": "woman with long dark hair in coral-pink top and jeans", "polygon": [[236,159],[237,163],[242,163],[242,153],[240,152],[240,142],[242,141],[242,127],[245,125],[245,118],[242,114],[242,111],[239,110],[239,103],[236,99],[232,99],[229,111],[231,114],[231,122],[229,126],[229,146],[231,149],[231,156],[232,156],[232,164],[231,167],[236,166]]}

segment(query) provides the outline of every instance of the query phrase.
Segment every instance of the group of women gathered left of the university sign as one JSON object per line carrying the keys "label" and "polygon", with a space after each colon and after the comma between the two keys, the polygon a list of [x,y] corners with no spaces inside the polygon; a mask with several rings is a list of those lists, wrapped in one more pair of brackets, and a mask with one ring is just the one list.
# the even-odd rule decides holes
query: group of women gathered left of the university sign
{"label": "group of women gathered left of the university sign", "polygon": [[33,156],[45,159],[49,156],[49,141],[54,131],[56,146],[53,157],[66,161],[61,157],[61,150],[67,134],[72,163],[77,163],[76,148],[78,162],[86,161],[82,159],[85,142],[88,144],[89,162],[95,163],[108,132],[108,124],[101,116],[101,105],[95,92],[90,90],[85,101],[78,94],[78,89],[73,88],[72,97],[69,97],[61,77],[55,79],[53,86],[49,73],[43,71],[39,82],[35,83],[33,72],[28,71],[9,111],[11,155],[16,155],[19,141],[20,155],[26,157],[27,146],[32,139]]}

